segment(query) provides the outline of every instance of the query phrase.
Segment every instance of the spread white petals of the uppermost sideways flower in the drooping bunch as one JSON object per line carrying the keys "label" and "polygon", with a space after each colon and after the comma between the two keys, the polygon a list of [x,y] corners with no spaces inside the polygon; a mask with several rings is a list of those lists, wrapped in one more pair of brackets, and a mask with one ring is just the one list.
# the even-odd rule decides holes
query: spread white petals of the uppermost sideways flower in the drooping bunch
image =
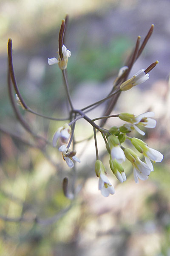
{"label": "spread white petals of the uppermost sideways flower in the drooping bunch", "polygon": [[153,112],[146,112],[143,114],[140,114],[139,116],[135,117],[135,120],[133,122],[133,127],[139,134],[144,135],[144,131],[141,131],[136,125],[142,125],[146,128],[155,128],[156,127],[156,120],[152,119],[150,117],[153,117],[155,113]]}

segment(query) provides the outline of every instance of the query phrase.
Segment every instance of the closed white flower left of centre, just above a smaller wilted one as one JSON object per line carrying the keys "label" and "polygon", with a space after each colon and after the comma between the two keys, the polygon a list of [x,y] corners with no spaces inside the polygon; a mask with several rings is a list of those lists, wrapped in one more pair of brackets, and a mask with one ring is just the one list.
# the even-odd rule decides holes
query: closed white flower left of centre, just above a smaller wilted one
{"label": "closed white flower left of centre, just above a smaller wilted one", "polygon": [[56,146],[57,140],[60,138],[62,143],[67,144],[68,140],[70,138],[71,134],[71,127],[68,124],[63,125],[62,127],[59,127],[57,131],[54,133],[53,139],[52,139],[52,145],[53,147]]}

